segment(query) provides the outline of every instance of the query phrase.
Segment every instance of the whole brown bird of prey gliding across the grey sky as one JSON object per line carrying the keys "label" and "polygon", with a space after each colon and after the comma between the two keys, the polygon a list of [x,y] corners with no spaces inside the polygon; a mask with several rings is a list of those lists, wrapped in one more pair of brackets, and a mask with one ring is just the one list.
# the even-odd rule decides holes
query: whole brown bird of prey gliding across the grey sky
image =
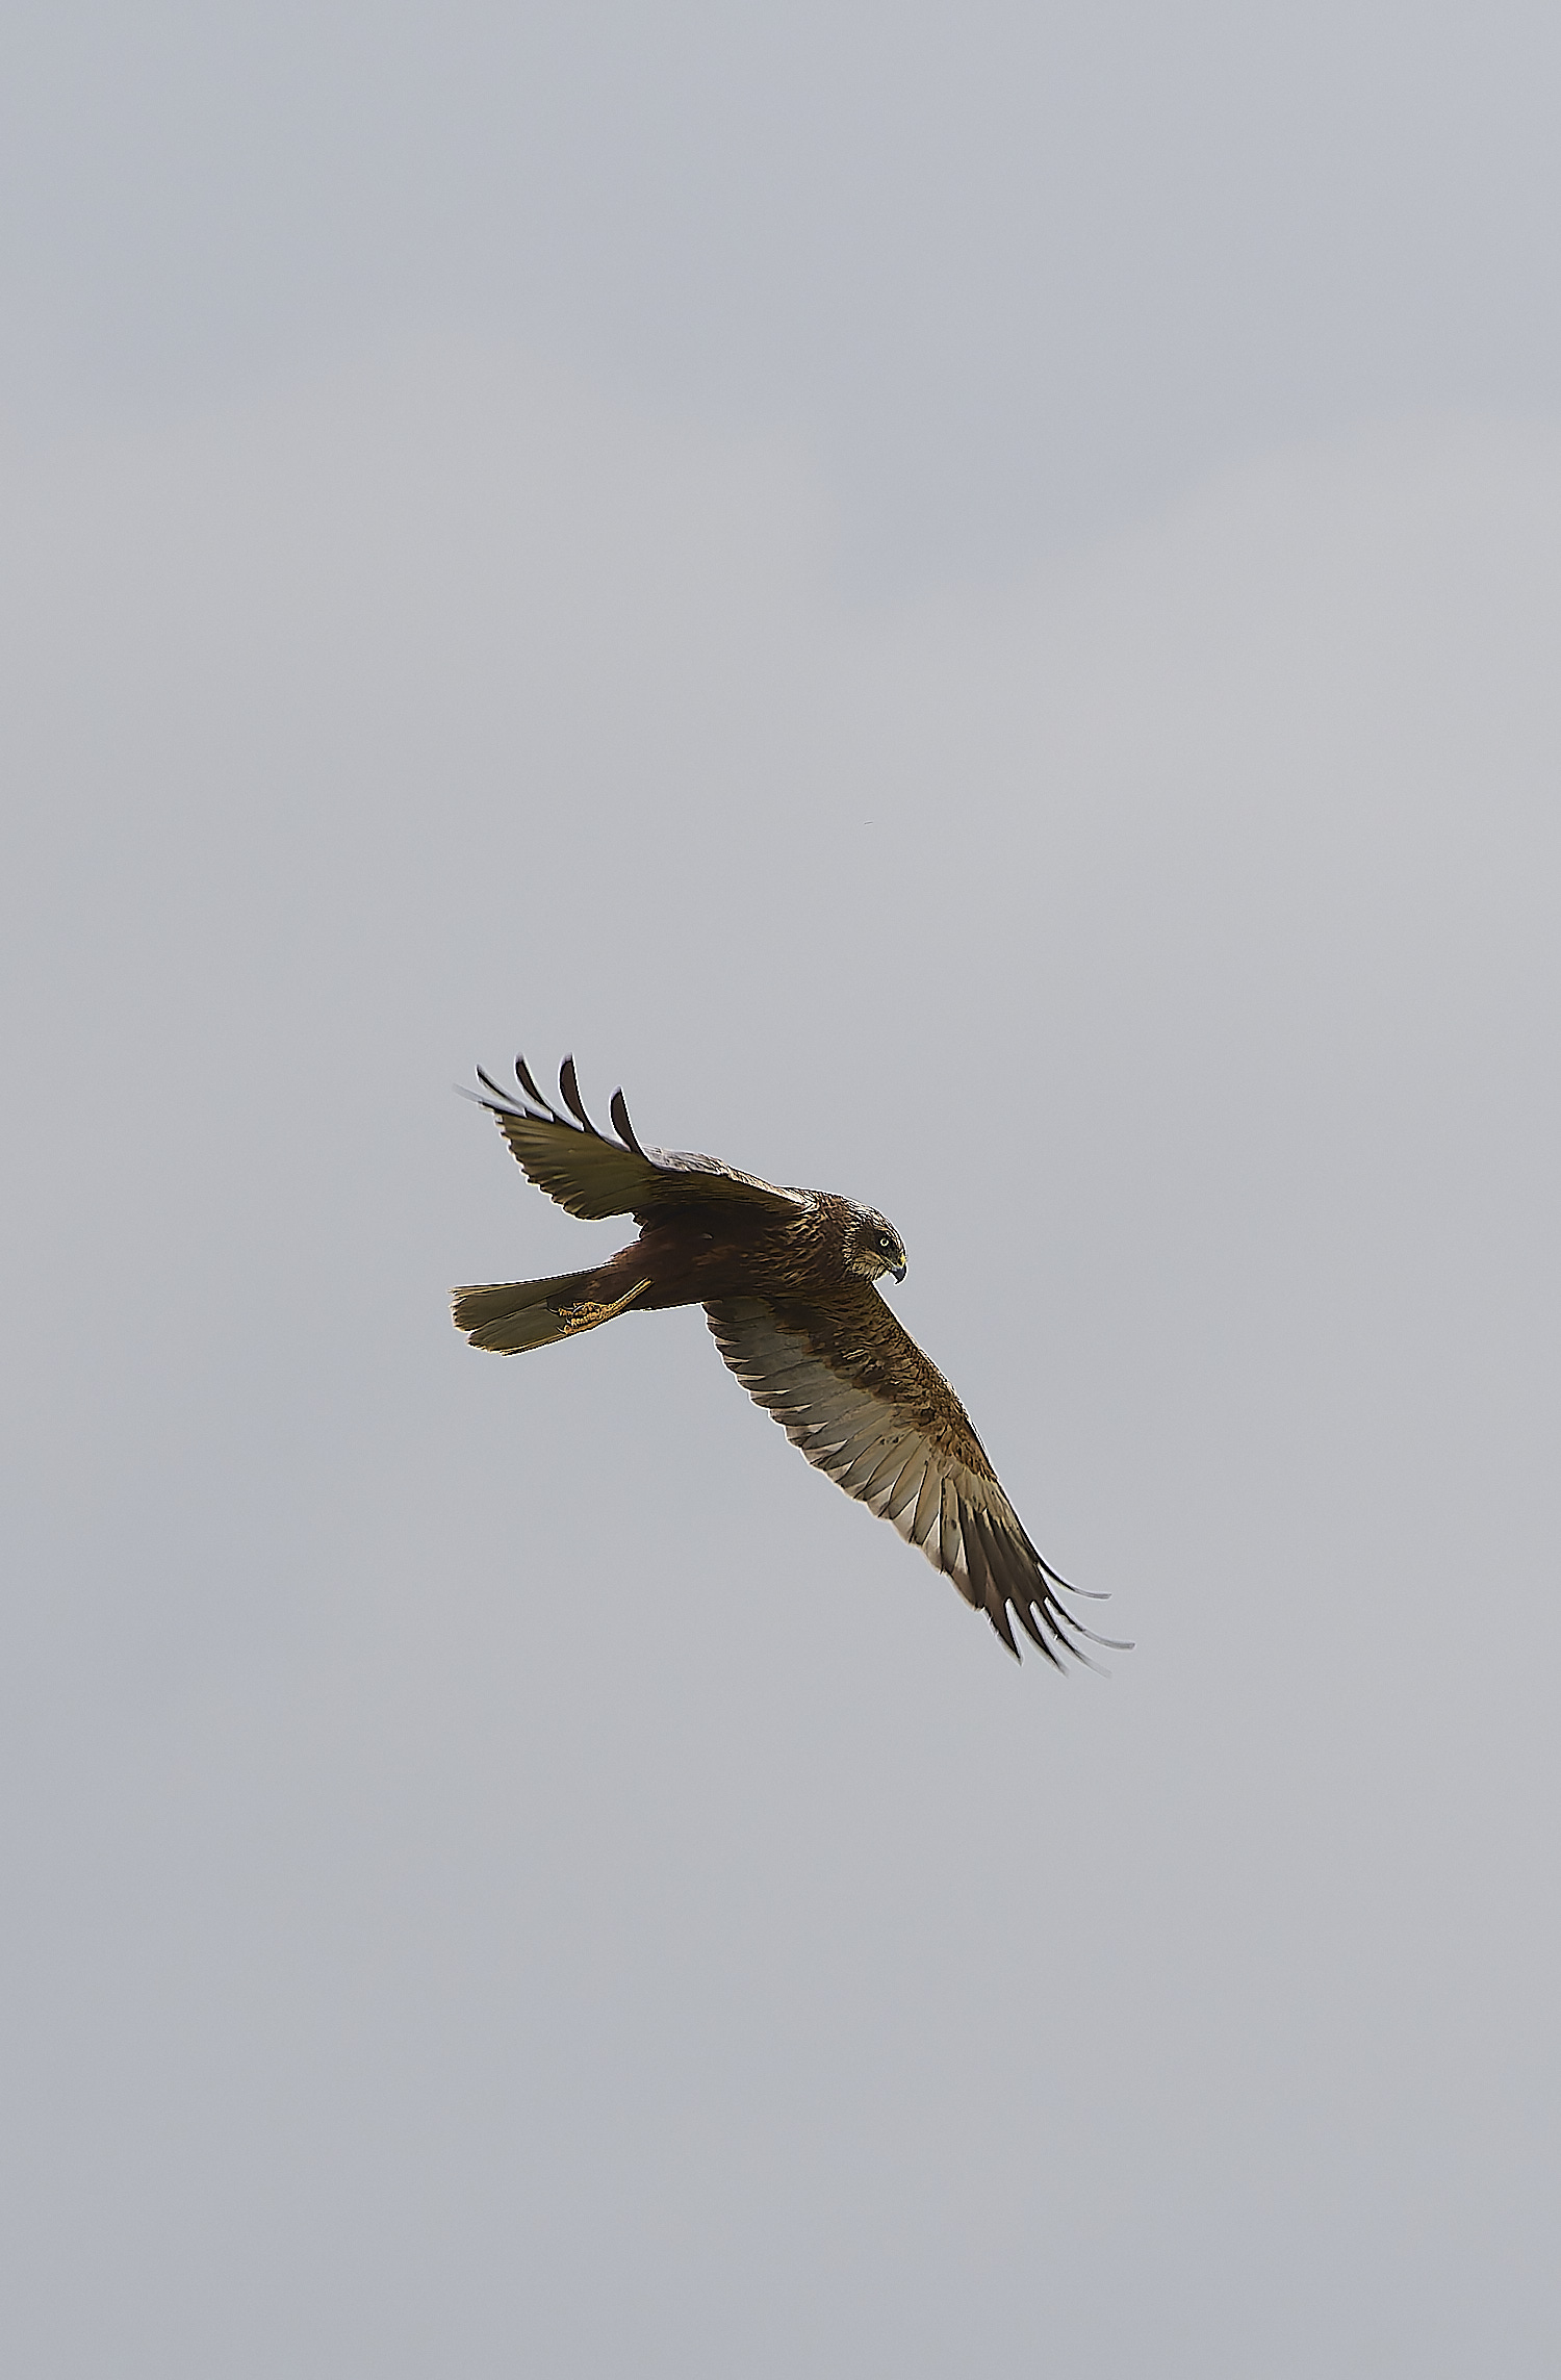
{"label": "whole brown bird of prey gliding across the grey sky", "polygon": [[1073,1595],[1030,1545],[964,1404],[899,1328],[876,1283],[904,1280],[904,1245],[876,1209],[833,1190],[780,1190],[716,1157],[645,1150],[623,1092],[609,1140],[581,1102],[573,1059],[564,1111],[514,1061],[521,1097],[483,1073],[478,1100],[526,1176],[569,1214],[628,1214],[640,1238],[583,1273],[454,1290],[474,1347],[519,1354],[597,1330],[616,1314],[702,1304],[716,1347],[754,1404],[809,1464],[892,1521],[1018,1659],[1009,1611],[1047,1661],[1097,1645],[1057,1592]]}

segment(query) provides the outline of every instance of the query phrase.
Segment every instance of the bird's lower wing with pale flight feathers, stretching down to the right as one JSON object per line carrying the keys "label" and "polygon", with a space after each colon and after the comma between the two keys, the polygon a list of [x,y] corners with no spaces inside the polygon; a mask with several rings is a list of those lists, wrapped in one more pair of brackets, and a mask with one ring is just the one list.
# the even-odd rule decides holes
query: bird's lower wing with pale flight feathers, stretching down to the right
{"label": "bird's lower wing with pale flight feathers, stretching down to the right", "polygon": [[947,1571],[1014,1656],[1009,1606],[1047,1661],[1061,1668],[1059,1647],[1087,1661],[1073,1633],[1090,1630],[1057,1602],[1073,1590],[1026,1537],[959,1397],[873,1288],[828,1307],[723,1297],[704,1314],[754,1404]]}

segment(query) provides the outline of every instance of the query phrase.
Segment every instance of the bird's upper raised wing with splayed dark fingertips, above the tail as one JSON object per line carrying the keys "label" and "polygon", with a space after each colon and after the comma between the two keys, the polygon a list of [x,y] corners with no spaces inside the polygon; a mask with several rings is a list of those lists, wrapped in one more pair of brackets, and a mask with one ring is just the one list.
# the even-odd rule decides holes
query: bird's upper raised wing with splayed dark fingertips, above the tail
{"label": "bird's upper raised wing with splayed dark fingertips, above the tail", "polygon": [[569,1214],[588,1221],[604,1214],[631,1214],[635,1221],[645,1221],[678,1207],[716,1202],[795,1216],[809,1204],[807,1192],[778,1190],[773,1183],[759,1180],[757,1173],[723,1166],[716,1157],[695,1157],[688,1150],[642,1150],[621,1090],[612,1095],[612,1123],[621,1138],[609,1140],[597,1133],[581,1102],[571,1057],[559,1066],[566,1116],[535,1088],[524,1057],[514,1061],[521,1100],[500,1090],[481,1066],[476,1073],[490,1097],[483,1100],[478,1092],[469,1092],[469,1097],[476,1097],[497,1119],[500,1133],[528,1180]]}

